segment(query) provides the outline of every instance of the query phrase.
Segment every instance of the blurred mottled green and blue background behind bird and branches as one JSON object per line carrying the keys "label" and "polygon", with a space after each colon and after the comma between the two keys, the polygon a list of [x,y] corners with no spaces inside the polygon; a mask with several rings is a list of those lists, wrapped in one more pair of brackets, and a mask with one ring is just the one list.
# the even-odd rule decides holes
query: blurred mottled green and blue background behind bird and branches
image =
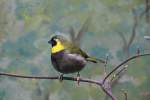
{"label": "blurred mottled green and blue background behind bird and branches", "polygon": [[[90,55],[109,55],[107,71],[128,56],[150,52],[150,22],[142,13],[144,0],[0,0],[0,72],[56,76],[50,61],[50,36],[68,34],[70,26],[78,32],[88,16],[91,23],[82,38],[82,49]],[[125,44],[134,33],[133,42]],[[125,40],[124,40],[125,38]],[[126,42],[125,42],[126,41]],[[128,63],[128,70],[113,87],[124,100],[150,100],[150,57]],[[81,76],[100,80],[102,64],[88,63]],[[66,76],[75,76],[68,74]],[[55,80],[31,80],[0,76],[0,100],[108,100],[95,85]]]}

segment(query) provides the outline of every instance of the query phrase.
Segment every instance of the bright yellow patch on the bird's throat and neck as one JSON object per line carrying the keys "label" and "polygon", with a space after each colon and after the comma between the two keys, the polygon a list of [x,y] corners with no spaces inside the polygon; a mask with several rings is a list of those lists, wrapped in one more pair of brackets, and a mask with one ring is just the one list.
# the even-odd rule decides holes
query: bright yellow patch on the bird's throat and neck
{"label": "bright yellow patch on the bird's throat and neck", "polygon": [[64,45],[57,39],[57,44],[51,48],[51,53],[57,53],[65,49]]}

